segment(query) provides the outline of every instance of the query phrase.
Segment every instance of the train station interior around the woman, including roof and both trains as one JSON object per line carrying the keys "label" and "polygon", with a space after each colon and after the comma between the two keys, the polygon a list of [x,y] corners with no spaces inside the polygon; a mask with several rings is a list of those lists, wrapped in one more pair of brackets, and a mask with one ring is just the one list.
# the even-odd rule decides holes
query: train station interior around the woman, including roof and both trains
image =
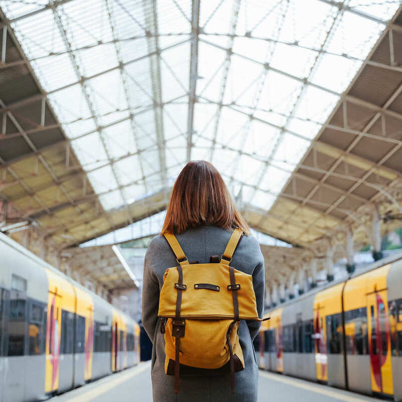
{"label": "train station interior around the woman, including roof and both trains", "polygon": [[153,400],[194,160],[264,259],[258,402],[401,402],[402,0],[0,0],[0,402]]}

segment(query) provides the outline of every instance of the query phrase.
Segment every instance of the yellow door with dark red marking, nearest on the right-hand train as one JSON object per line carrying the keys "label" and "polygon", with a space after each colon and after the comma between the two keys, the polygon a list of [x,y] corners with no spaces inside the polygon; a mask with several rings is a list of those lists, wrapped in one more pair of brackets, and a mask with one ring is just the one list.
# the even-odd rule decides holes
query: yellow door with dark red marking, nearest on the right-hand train
{"label": "yellow door with dark red marking, nearest on the right-hand train", "polygon": [[371,390],[393,394],[386,289],[367,294],[367,328]]}

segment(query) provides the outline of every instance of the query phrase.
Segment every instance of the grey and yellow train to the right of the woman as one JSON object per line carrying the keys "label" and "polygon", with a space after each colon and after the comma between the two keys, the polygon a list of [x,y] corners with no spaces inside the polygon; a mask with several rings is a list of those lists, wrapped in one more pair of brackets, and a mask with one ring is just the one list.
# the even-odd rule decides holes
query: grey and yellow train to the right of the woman
{"label": "grey and yellow train to the right of the woman", "polygon": [[265,313],[260,369],[402,401],[402,255]]}

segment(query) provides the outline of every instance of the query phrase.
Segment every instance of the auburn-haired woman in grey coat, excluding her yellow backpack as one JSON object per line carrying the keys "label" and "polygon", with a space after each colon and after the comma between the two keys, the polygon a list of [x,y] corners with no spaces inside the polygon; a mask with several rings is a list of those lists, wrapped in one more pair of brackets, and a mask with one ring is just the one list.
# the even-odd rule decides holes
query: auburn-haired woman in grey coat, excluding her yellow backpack
{"label": "auburn-haired woman in grey coat, excluding her yellow backpack", "polygon": [[[191,161],[174,183],[161,235],[174,233],[189,261],[207,263],[210,256],[221,255],[238,227],[244,233],[231,266],[252,275],[258,316],[262,318],[264,300],[264,259],[258,242],[237,211],[218,170],[206,161]],[[241,401],[257,400],[258,367],[253,340],[257,321],[240,322],[239,339],[244,355],[244,370],[235,374],[235,393],[226,376],[181,377],[178,394],[173,392],[174,378],[164,371],[164,335],[158,319],[159,292],[165,270],[177,265],[176,257],[163,236],[154,237],[145,255],[142,322],[152,340],[151,377],[154,402]]]}

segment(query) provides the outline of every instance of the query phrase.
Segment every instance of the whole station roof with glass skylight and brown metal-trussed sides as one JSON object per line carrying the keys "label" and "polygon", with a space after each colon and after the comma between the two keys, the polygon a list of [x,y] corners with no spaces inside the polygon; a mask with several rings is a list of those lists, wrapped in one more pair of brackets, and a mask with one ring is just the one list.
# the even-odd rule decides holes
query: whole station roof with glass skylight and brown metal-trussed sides
{"label": "whole station roof with glass skylight and brown metal-trussed sides", "polygon": [[295,245],[395,200],[399,1],[0,7],[0,190],[60,248],[163,211],[194,159],[250,226]]}

